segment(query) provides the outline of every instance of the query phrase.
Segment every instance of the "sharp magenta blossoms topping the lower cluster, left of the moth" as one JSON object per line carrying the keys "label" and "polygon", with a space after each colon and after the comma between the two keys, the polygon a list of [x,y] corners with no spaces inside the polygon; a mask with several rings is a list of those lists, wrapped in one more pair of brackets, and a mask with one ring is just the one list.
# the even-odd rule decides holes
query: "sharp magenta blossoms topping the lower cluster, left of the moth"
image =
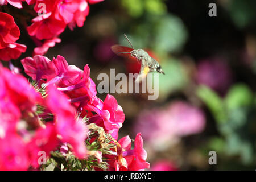
{"label": "sharp magenta blossoms topping the lower cluster, left of the moth", "polygon": [[[75,65],[68,65],[63,56],[58,55],[50,61],[44,56],[26,57],[22,60],[25,72],[34,80],[47,79],[45,86],[56,84],[57,88],[71,99],[79,101],[79,97],[89,98],[93,102],[96,96],[96,85],[90,76],[90,68],[85,65],[84,71]],[[77,102],[72,100],[72,102]]]}

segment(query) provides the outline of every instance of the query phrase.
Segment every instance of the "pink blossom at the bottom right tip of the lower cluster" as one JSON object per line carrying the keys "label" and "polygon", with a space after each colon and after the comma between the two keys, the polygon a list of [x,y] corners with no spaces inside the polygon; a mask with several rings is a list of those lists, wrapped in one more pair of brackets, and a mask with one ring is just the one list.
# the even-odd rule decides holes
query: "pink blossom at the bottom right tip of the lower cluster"
{"label": "pink blossom at the bottom right tip of the lower cluster", "polygon": [[[128,171],[139,171],[145,168],[150,168],[150,163],[146,162],[147,152],[143,148],[143,139],[141,137],[141,133],[138,133],[135,137],[133,150],[131,150],[131,139],[128,136],[121,138],[118,143],[124,150],[122,152],[122,157],[125,158],[126,162],[122,162],[121,158],[118,157],[118,160],[115,162],[115,170],[121,169]],[[117,154],[118,153],[119,152],[117,151]],[[122,166],[126,163],[127,167]]]}

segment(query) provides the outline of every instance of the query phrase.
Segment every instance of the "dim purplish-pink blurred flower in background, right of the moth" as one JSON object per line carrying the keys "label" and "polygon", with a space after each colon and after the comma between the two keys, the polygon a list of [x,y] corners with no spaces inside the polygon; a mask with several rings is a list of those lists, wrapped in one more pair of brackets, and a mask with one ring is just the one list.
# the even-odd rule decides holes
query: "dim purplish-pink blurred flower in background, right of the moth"
{"label": "dim purplish-pink blurred flower in background, right of the moth", "polygon": [[196,81],[209,86],[220,94],[225,94],[232,84],[232,72],[225,60],[219,57],[202,60],[197,65]]}

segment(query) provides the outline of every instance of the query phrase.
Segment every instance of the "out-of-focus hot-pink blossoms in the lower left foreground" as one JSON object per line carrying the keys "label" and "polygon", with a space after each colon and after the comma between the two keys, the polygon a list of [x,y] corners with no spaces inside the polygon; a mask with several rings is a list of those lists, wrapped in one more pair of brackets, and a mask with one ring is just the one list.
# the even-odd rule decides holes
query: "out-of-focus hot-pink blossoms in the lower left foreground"
{"label": "out-of-focus hot-pink blossoms in the lower left foreground", "polygon": [[[38,168],[39,151],[49,156],[60,142],[71,144],[78,158],[86,155],[86,125],[53,85],[48,86],[47,97],[42,97],[26,78],[2,66],[0,82],[0,169]],[[47,112],[40,114],[38,105]]]}

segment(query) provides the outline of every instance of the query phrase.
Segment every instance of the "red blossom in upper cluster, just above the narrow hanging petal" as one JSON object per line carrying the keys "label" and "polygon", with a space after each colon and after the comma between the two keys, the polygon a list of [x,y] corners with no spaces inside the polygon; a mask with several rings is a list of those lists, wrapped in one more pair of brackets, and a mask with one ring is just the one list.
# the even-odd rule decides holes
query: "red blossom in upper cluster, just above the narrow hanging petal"
{"label": "red blossom in upper cluster, just above the narrow hanging petal", "polygon": [[61,34],[66,27],[63,21],[57,20],[52,13],[46,13],[32,19],[31,26],[27,27],[30,36],[36,36],[39,40],[52,39]]}

